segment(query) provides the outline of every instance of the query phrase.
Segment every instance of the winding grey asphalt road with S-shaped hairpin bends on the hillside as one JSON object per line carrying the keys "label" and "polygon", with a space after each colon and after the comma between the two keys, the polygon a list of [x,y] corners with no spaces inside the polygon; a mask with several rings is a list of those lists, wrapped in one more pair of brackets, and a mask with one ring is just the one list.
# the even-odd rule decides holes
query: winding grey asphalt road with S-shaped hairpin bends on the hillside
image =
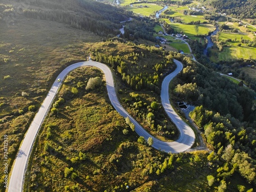
{"label": "winding grey asphalt road with S-shaped hairpin bends on the hillside", "polygon": [[[30,155],[30,151],[34,142],[34,139],[37,135],[37,132],[40,128],[40,125],[42,121],[44,120],[45,116],[47,115],[47,112],[49,111],[51,107],[51,103],[61,85],[61,81],[74,69],[82,66],[93,66],[101,69],[103,73],[105,74],[106,79],[106,88],[108,90],[109,98],[111,100],[112,105],[117,110],[118,113],[120,113],[124,118],[129,117],[131,122],[135,124],[135,131],[138,135],[143,136],[145,139],[148,137],[152,137],[153,147],[157,148],[158,150],[162,150],[165,152],[170,153],[180,153],[188,148],[190,148],[194,141],[195,141],[195,134],[194,132],[184,123],[184,121],[173,111],[172,106],[170,106],[169,103],[169,94],[168,94],[168,85],[169,81],[175,77],[181,70],[182,70],[182,63],[175,60],[176,65],[178,66],[177,69],[166,76],[164,78],[163,84],[162,84],[162,91],[161,91],[161,99],[163,107],[168,114],[169,117],[172,118],[174,123],[177,125],[179,131],[180,131],[180,137],[175,142],[164,142],[160,141],[154,137],[152,137],[150,134],[148,134],[141,125],[137,121],[135,121],[127,112],[126,110],[121,106],[119,100],[117,99],[115,87],[114,87],[114,80],[112,76],[112,72],[106,65],[95,62],[95,61],[86,61],[86,62],[78,62],[75,63],[69,67],[67,67],[65,70],[63,70],[58,77],[56,78],[55,82],[53,83],[53,86],[51,90],[49,91],[46,99],[42,103],[38,113],[35,115],[28,132],[26,133],[26,136],[22,142],[22,145],[20,146],[19,152],[17,154],[17,157],[14,161],[13,167],[12,167],[12,174],[9,182],[8,191],[9,192],[21,192],[23,189],[23,179],[25,176],[25,170],[26,165],[28,161],[28,157]],[[61,81],[57,82],[57,79],[60,78]]]}

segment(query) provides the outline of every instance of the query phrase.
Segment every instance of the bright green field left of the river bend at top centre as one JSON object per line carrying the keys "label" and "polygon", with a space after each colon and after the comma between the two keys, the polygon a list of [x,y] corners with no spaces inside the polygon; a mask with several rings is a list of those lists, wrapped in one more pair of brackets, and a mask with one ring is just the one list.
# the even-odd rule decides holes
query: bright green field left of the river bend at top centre
{"label": "bright green field left of the river bend at top centre", "polygon": [[[142,6],[142,7],[139,7]],[[147,7],[144,7],[147,6]],[[155,12],[161,10],[163,7],[156,5],[156,4],[134,4],[133,7],[126,8],[126,10],[133,11],[136,14],[144,15],[144,16],[150,16],[151,14],[154,14]]]}

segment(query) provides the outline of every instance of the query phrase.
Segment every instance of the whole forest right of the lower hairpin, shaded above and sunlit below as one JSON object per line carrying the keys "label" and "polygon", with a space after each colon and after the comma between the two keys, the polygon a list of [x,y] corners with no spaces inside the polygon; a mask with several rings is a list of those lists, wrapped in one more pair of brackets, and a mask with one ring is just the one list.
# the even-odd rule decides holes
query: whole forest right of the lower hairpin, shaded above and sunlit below
{"label": "whole forest right of the lower hairpin, shaded above and sunlit below", "polygon": [[189,116],[204,132],[208,146],[214,150],[207,160],[211,166],[219,165],[215,174],[220,182],[218,188],[227,188],[236,173],[255,185],[256,110],[253,92],[186,58],[183,63],[186,67],[179,75],[180,84],[174,93],[179,99],[198,105]]}

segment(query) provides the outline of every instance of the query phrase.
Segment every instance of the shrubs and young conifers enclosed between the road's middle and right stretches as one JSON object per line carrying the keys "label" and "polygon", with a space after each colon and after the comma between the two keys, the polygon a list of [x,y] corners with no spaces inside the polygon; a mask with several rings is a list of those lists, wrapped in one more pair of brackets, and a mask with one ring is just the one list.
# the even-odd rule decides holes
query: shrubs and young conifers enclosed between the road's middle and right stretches
{"label": "shrubs and young conifers enclosed between the road's middle and right stretches", "polygon": [[84,52],[116,71],[117,79],[122,82],[118,83],[120,101],[147,131],[162,139],[177,137],[178,132],[167,120],[159,97],[164,74],[175,68],[173,53],[117,39],[93,44]]}

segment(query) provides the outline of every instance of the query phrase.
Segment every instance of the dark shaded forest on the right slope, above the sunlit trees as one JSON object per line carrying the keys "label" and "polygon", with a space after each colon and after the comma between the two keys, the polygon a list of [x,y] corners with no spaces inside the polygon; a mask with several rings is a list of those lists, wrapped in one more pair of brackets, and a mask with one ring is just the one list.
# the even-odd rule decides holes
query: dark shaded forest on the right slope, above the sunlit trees
{"label": "dark shaded forest on the right slope, above the sunlit trees", "polygon": [[255,120],[251,90],[234,84],[202,65],[188,64],[180,74],[182,84],[176,88],[178,95],[224,116],[230,114],[248,122]]}

